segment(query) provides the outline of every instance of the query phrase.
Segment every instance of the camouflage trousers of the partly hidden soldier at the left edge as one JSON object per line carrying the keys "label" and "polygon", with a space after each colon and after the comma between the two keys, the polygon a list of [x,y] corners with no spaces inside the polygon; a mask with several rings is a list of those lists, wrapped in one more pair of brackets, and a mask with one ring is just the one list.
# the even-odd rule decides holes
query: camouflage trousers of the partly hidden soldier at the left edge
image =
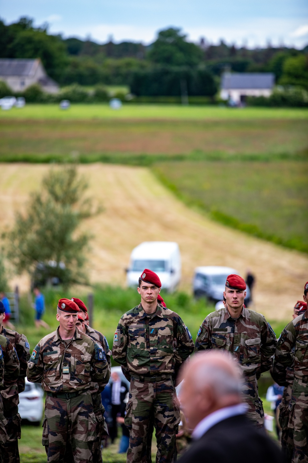
{"label": "camouflage trousers of the partly hidden soldier at the left edge", "polygon": [[[7,399],[6,399],[7,400]],[[18,413],[18,406],[13,405],[4,411],[6,418],[7,439],[5,444],[1,444],[1,454],[3,463],[19,463],[18,440],[21,437],[21,418]]]}

